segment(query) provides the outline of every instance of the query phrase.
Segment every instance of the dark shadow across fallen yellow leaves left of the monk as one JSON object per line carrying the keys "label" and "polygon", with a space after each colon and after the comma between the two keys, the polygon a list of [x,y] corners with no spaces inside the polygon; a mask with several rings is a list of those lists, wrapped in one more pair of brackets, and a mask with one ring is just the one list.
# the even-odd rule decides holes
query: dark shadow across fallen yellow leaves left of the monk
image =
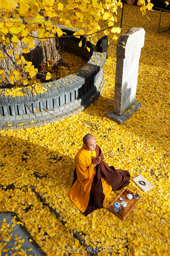
{"label": "dark shadow across fallen yellow leaves left of the monk", "polygon": [[40,192],[54,189],[59,197],[62,193],[69,197],[75,168],[72,158],[10,135],[0,136],[0,145],[0,183],[4,188],[35,186]]}

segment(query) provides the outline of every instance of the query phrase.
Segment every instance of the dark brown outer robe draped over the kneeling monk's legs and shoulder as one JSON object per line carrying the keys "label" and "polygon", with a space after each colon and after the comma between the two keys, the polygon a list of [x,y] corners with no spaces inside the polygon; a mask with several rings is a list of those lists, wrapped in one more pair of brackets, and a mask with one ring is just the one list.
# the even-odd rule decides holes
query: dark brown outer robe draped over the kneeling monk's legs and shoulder
{"label": "dark brown outer robe draped over the kneeling monk's legs and shoulder", "polygon": [[[123,187],[127,186],[129,184],[130,179],[129,171],[124,171],[122,169],[116,170],[114,166],[109,166],[107,163],[103,161],[103,153],[98,145],[96,145],[96,150],[96,156],[101,157],[101,162],[100,164],[96,165],[96,174],[93,177],[88,206],[83,212],[84,216],[87,216],[96,209],[103,208],[103,201],[105,199],[105,195],[103,193],[103,186],[101,182],[102,177],[105,177],[108,180],[113,191],[121,190]],[[76,180],[77,173],[75,168],[73,184]]]}

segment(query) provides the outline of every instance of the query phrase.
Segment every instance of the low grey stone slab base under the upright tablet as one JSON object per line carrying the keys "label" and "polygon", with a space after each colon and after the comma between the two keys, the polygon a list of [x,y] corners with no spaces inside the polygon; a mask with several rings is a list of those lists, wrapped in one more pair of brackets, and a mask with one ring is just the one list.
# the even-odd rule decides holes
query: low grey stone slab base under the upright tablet
{"label": "low grey stone slab base under the upright tablet", "polygon": [[109,112],[106,113],[105,117],[118,123],[119,125],[122,125],[127,119],[129,119],[129,117],[135,112],[135,110],[141,107],[141,104],[138,101],[135,101],[133,105],[135,107],[133,109],[131,108],[129,113],[122,114],[121,116],[119,116],[114,112],[114,109],[111,109]]}

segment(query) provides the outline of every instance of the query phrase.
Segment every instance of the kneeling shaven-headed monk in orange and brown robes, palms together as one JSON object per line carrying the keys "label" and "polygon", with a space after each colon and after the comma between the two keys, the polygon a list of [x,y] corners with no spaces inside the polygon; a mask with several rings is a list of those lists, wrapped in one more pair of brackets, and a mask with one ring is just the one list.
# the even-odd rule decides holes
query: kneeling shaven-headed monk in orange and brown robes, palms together
{"label": "kneeling shaven-headed monk in orange and brown robes, palms together", "polygon": [[70,198],[84,216],[103,208],[111,191],[129,184],[129,171],[116,170],[103,161],[101,148],[95,137],[86,134],[83,146],[75,156],[75,170]]}

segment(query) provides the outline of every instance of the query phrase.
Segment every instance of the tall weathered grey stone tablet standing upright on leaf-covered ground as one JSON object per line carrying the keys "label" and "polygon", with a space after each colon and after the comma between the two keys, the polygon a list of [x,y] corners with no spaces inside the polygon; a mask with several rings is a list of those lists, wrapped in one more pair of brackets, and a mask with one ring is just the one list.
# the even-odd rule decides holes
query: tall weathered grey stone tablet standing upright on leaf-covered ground
{"label": "tall weathered grey stone tablet standing upright on leaf-covered ground", "polygon": [[119,116],[135,103],[139,58],[144,41],[143,28],[130,28],[117,40],[114,112]]}

